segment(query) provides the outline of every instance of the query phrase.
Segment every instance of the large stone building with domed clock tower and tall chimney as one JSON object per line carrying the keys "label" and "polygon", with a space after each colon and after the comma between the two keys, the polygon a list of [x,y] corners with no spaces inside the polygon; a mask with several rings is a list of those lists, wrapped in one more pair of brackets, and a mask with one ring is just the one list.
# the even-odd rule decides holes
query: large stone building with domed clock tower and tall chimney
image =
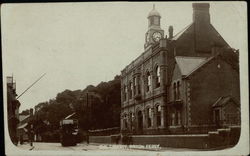
{"label": "large stone building with domed clock tower and tall chimney", "polygon": [[[203,133],[240,124],[239,53],[210,22],[208,3],[173,35],[148,15],[144,52],[121,71],[121,131]],[[233,121],[232,121],[233,120]]]}

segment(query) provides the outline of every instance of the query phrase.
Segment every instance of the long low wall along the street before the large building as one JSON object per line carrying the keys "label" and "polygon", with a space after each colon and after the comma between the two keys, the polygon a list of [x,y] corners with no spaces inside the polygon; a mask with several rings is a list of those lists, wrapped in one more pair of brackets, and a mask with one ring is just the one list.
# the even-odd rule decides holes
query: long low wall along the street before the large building
{"label": "long low wall along the street before the large building", "polygon": [[208,134],[185,135],[111,135],[90,136],[92,143],[133,144],[133,145],[160,145],[160,147],[211,149],[229,147],[237,144],[240,137],[240,127],[218,129]]}

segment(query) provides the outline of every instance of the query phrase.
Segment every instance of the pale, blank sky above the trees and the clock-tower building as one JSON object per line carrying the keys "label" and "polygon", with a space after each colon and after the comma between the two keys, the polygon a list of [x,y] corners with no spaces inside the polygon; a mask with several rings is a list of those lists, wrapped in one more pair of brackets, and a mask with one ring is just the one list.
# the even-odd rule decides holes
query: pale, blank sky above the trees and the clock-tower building
{"label": "pale, blank sky above the trees and the clock-tower building", "polygon": [[[161,2],[161,28],[174,34],[192,22],[192,3]],[[20,111],[65,89],[109,81],[144,49],[152,2],[41,3],[2,6],[3,76],[14,76]],[[211,2],[211,23],[228,44],[246,53],[244,2]]]}

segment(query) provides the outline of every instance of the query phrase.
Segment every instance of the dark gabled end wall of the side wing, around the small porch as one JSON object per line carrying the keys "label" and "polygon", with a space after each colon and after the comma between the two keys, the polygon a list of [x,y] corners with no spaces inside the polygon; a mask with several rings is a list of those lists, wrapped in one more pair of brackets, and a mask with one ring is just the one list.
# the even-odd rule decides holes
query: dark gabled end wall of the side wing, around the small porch
{"label": "dark gabled end wall of the side wing, around the small porch", "polygon": [[189,81],[192,125],[213,122],[212,104],[219,97],[231,95],[240,99],[239,73],[220,58],[201,67]]}

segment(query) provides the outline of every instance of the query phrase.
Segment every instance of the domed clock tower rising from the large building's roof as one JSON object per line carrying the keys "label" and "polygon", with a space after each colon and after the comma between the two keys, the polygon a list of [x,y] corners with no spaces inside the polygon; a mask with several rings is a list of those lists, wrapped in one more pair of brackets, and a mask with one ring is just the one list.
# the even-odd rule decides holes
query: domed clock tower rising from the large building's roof
{"label": "domed clock tower rising from the large building's roof", "polygon": [[145,34],[145,44],[144,48],[148,48],[150,45],[159,42],[164,36],[164,30],[161,29],[161,15],[155,9],[153,9],[148,14],[148,31]]}

